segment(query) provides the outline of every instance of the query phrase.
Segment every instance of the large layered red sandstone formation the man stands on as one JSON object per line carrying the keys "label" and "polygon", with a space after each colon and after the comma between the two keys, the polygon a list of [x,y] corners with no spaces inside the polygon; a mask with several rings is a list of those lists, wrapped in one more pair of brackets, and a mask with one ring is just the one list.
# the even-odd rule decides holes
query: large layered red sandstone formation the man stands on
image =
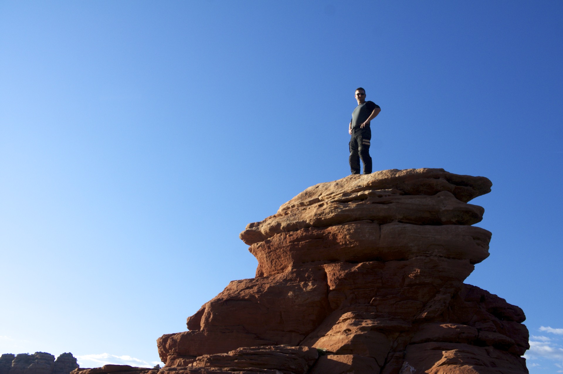
{"label": "large layered red sandstone formation the man stands on", "polygon": [[256,277],[160,337],[159,374],[528,373],[524,312],[463,284],[491,236],[467,202],[490,187],[425,168],[306,189],[240,234]]}

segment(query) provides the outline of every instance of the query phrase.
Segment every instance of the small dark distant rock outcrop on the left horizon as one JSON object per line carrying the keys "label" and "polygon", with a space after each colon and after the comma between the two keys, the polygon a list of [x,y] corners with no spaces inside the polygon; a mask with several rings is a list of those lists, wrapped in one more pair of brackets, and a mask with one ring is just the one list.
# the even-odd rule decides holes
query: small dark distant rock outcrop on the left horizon
{"label": "small dark distant rock outcrop on the left horizon", "polygon": [[60,354],[56,360],[45,352],[7,353],[0,357],[0,374],[69,374],[75,368],[78,363],[72,353]]}

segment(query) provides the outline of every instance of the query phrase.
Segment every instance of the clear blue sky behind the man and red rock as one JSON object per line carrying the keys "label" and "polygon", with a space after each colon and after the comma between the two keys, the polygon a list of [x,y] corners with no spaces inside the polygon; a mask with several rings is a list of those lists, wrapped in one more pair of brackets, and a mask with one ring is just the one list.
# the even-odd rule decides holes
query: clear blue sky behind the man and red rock
{"label": "clear blue sky behind the man and red rock", "polygon": [[254,276],[248,222],[349,174],[363,86],[374,170],[493,181],[467,282],[524,309],[531,373],[561,372],[562,20],[559,0],[0,1],[0,353],[158,362]]}

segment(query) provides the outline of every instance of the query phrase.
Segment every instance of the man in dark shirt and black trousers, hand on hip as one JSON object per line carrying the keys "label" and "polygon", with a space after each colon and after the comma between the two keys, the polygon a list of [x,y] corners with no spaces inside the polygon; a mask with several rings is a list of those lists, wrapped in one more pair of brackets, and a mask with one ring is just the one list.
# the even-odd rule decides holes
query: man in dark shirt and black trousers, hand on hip
{"label": "man in dark shirt and black trousers, hand on hip", "polygon": [[360,174],[360,158],[364,163],[364,174],[372,172],[372,158],[369,156],[369,141],[372,139],[372,130],[369,121],[373,120],[381,108],[373,101],[365,101],[365,90],[356,89],[355,93],[358,106],[352,112],[352,120],[348,126],[350,139],[350,170],[352,174]]}

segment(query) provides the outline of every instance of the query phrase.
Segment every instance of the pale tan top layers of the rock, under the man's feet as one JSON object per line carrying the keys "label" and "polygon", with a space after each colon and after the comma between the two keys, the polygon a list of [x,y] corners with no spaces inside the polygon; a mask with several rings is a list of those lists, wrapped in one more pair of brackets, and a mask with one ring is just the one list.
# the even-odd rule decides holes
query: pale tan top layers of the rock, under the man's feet
{"label": "pale tan top layers of the rock, under the man's feet", "polygon": [[372,220],[377,224],[473,225],[484,209],[467,204],[490,191],[485,177],[444,169],[383,170],[307,188],[275,215],[248,224],[240,239],[252,245],[281,232]]}

